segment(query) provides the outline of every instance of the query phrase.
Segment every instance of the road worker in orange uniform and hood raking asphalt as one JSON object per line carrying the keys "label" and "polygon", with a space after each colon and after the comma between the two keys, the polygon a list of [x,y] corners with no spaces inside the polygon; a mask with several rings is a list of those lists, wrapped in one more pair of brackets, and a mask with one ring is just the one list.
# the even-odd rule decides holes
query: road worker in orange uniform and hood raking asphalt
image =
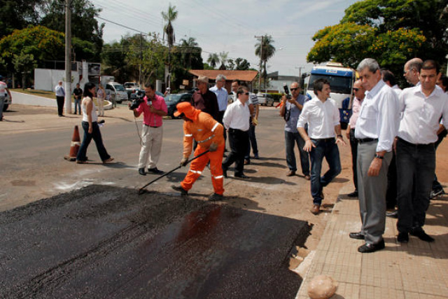
{"label": "road worker in orange uniform and hood raking asphalt", "polygon": [[174,190],[180,191],[182,195],[187,195],[188,190],[193,187],[193,183],[200,177],[202,170],[210,161],[211,182],[215,193],[209,196],[209,200],[223,200],[223,153],[225,141],[223,137],[223,125],[218,123],[209,113],[195,109],[189,102],[177,104],[177,111],[174,116],[183,118],[183,158],[181,165],[188,163],[193,149],[193,139],[197,141],[195,156],[209,150],[209,153],[202,155],[191,162],[188,173],[181,182],[181,186],[172,186]]}

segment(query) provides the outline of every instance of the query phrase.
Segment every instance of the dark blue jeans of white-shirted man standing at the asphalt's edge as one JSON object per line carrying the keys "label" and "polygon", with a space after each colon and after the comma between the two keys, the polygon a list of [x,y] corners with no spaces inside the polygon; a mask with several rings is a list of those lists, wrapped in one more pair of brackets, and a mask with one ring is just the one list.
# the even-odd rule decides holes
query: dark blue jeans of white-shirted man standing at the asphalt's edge
{"label": "dark blue jeans of white-shirted man standing at the asphalt's edge", "polygon": [[[309,153],[311,158],[311,196],[314,204],[322,203],[322,189],[332,179],[341,173],[341,160],[339,160],[339,148],[334,138],[311,139],[316,146]],[[328,171],[321,176],[323,158],[328,162]]]}

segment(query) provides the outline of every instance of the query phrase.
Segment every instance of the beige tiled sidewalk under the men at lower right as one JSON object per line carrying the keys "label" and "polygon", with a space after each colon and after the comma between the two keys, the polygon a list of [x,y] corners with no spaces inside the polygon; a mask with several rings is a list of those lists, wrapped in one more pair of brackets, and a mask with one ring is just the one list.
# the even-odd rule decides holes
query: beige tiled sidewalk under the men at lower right
{"label": "beige tiled sidewalk under the men at lower right", "polygon": [[424,229],[435,242],[409,236],[400,244],[396,219],[386,218],[386,249],[358,253],[364,241],[349,238],[360,230],[358,199],[346,196],[351,191],[351,184],[340,191],[297,298],[309,298],[307,286],[318,274],[338,282],[332,298],[448,298],[448,195],[431,200],[426,214]]}

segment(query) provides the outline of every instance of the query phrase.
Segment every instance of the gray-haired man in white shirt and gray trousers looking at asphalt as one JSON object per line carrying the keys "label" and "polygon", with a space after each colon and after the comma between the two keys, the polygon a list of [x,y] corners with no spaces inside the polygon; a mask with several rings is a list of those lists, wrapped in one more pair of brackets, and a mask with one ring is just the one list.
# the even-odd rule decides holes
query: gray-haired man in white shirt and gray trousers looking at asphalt
{"label": "gray-haired man in white shirt and gray trousers looking at asphalt", "polygon": [[398,97],[381,80],[376,60],[366,58],[357,68],[366,90],[356,121],[358,139],[358,198],[361,217],[360,232],[351,232],[353,239],[365,239],[360,253],[384,249],[386,226],[386,188],[392,146],[398,130]]}

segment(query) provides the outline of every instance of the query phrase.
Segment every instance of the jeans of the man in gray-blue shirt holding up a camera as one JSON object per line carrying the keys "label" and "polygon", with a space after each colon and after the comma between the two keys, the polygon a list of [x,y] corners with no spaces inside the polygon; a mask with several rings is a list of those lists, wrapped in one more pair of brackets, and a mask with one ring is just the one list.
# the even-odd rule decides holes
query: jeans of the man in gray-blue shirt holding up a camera
{"label": "jeans of the man in gray-blue shirt holding up a camera", "polygon": [[304,151],[305,141],[299,132],[285,131],[286,164],[293,172],[297,171],[295,163],[294,145],[297,144],[300,154],[300,165],[304,176],[309,176],[309,153]]}

